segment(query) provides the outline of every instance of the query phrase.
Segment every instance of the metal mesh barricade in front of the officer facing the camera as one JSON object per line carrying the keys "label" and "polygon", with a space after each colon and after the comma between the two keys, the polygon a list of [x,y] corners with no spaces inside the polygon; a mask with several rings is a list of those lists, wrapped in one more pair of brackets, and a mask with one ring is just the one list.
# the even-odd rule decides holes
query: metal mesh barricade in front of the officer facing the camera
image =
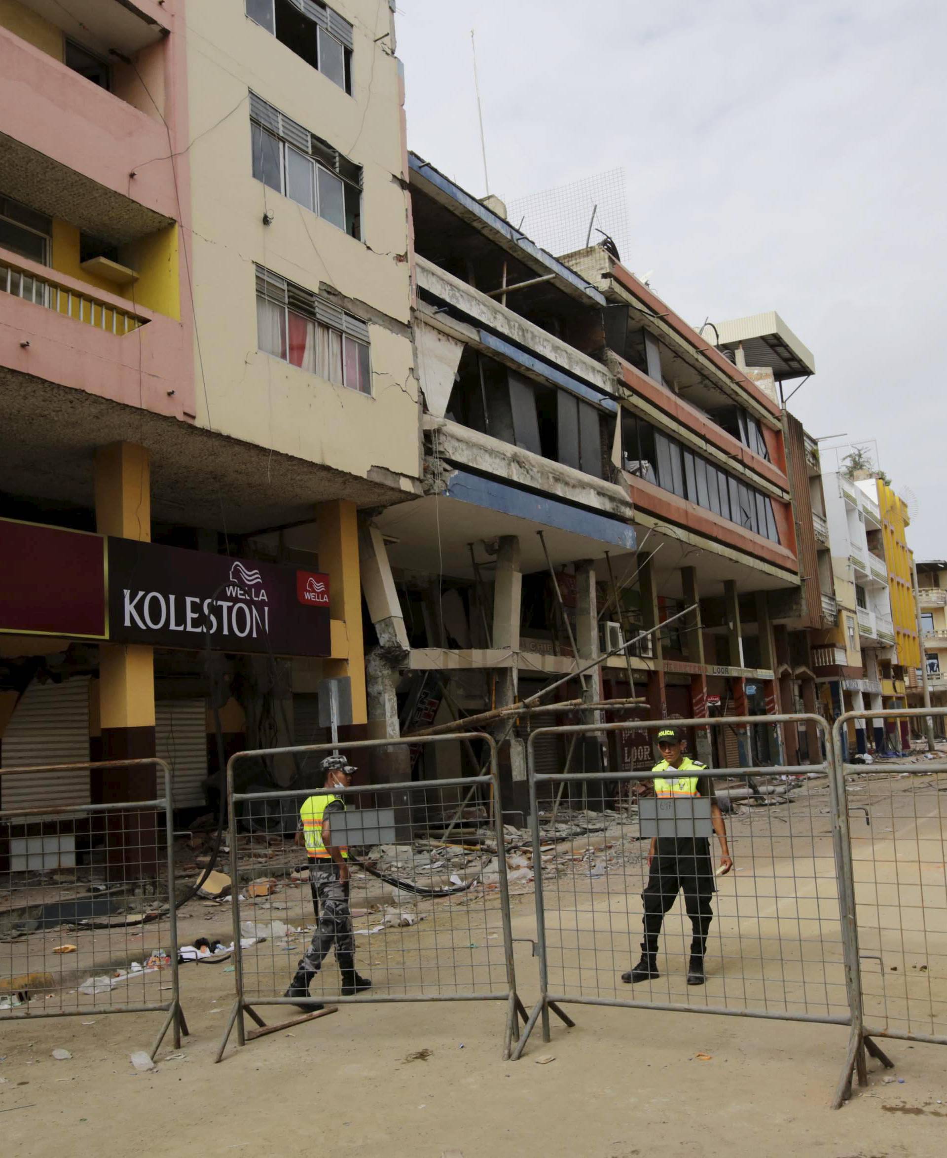
{"label": "metal mesh barricade in front of the officer facing the camera", "polygon": [[[714,870],[720,857],[715,833],[709,837],[710,863],[705,844],[702,851],[707,840],[702,834],[712,831],[713,818],[699,823],[645,820],[646,811],[656,816],[666,809],[655,811],[656,802],[646,809],[631,787],[661,774],[538,774],[533,760],[533,742],[544,734],[758,723],[758,717],[637,720],[543,728],[530,736],[541,997],[514,1056],[538,1019],[549,1041],[550,1010],[568,1023],[560,1009],[566,1003],[852,1024],[854,944],[839,885],[842,809],[824,719],[798,714],[763,720],[814,724],[827,753],[821,764],[707,771],[718,782],[718,799],[727,801],[722,821],[734,866],[724,875]],[[734,787],[722,790],[721,779]],[[581,801],[585,811],[578,816],[565,811],[566,793]],[[588,809],[607,822],[593,826]],[[676,823],[678,833],[698,835],[678,836],[683,844],[659,844],[652,867],[649,834],[659,822],[662,834]],[[655,975],[626,983],[622,974],[631,972],[646,945],[654,950],[655,936]],[[688,983],[691,953],[704,958],[704,983]],[[843,1075],[836,1104],[847,1085]]]}

